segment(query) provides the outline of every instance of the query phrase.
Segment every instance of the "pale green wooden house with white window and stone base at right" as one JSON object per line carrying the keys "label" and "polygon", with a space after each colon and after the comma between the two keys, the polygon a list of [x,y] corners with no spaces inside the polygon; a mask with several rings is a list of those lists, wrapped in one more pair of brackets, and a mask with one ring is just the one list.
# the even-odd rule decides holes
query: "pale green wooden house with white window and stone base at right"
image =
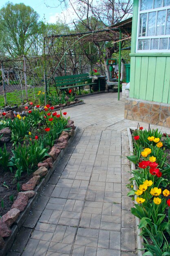
{"label": "pale green wooden house with white window and stone base at right", "polygon": [[125,118],[170,127],[170,0],[134,0]]}

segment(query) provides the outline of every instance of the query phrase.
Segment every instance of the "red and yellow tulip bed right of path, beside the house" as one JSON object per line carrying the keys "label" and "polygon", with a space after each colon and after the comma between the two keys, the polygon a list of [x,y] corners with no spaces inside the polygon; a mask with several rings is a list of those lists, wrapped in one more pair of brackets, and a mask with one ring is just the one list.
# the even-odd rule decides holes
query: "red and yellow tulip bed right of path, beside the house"
{"label": "red and yellow tulip bed right of path, beside the house", "polygon": [[[129,196],[135,204],[131,213],[139,218],[144,256],[170,255],[170,138],[158,130],[132,131],[135,164],[130,179]],[[134,182],[134,184],[133,184]]]}

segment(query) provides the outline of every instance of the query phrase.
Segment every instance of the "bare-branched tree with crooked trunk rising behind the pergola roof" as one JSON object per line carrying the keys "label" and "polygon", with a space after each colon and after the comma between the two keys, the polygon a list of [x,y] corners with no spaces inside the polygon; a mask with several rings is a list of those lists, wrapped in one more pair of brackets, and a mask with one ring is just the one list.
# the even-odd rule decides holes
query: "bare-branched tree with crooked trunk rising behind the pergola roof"
{"label": "bare-branched tree with crooked trunk rising behind the pergola roof", "polygon": [[[117,22],[132,16],[131,0],[101,0],[94,4],[93,0],[61,0],[65,2],[66,7],[71,6],[77,18],[73,20],[75,31],[95,31],[108,28]],[[115,41],[119,40],[119,33],[115,34]],[[125,41],[121,45],[124,47]],[[93,39],[101,65],[104,65],[106,76],[109,78],[109,70],[106,65],[107,58],[119,51],[118,43],[110,43],[106,40]],[[84,52],[87,53],[84,47]],[[88,54],[87,54],[88,55]],[[102,60],[102,61],[101,61]]]}

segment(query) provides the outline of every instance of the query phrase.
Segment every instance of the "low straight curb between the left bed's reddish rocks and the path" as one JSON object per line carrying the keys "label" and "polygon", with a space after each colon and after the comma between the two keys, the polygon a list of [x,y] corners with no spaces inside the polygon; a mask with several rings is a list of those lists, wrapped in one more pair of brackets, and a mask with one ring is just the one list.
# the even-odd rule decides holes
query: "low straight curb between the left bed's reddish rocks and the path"
{"label": "low straight curb between the left bed's reddish rocks and the path", "polygon": [[[78,104],[79,103],[77,103],[77,105]],[[75,138],[75,135],[77,134],[78,130],[79,130],[79,128],[78,128],[78,126],[76,126],[76,128],[74,130],[75,131],[74,135],[72,137],[70,137],[70,139],[68,140],[67,146],[61,150],[57,159],[53,162],[53,168],[49,169],[49,172],[46,174],[46,176],[44,178],[42,178],[40,183],[34,189],[35,195],[32,198],[29,199],[29,202],[26,205],[24,211],[22,211],[20,213],[20,215],[18,216],[18,219],[13,223],[12,228],[11,228],[12,233],[8,238],[5,239],[5,246],[4,246],[3,249],[0,250],[0,256],[4,256],[8,252],[8,250],[11,248],[11,246],[12,246],[14,240],[15,240],[15,237],[17,236],[18,232],[20,231],[20,228],[22,227],[26,218],[29,216],[29,213],[30,213],[31,209],[33,208],[34,204],[37,202],[38,197],[42,193],[42,190],[43,190],[44,186],[46,185],[46,183],[49,181],[52,173],[54,172],[55,168],[57,167],[57,164],[60,162],[60,160],[62,159],[62,157],[66,153],[66,150],[68,149],[68,147],[73,142],[73,140]]]}

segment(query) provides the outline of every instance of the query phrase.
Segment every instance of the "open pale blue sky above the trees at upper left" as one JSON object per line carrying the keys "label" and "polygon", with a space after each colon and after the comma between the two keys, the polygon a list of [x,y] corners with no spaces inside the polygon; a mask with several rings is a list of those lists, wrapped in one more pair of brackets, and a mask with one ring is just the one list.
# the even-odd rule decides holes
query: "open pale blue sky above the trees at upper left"
{"label": "open pale blue sky above the trees at upper left", "polygon": [[[0,0],[0,9],[7,3],[7,0]],[[45,19],[49,23],[55,23],[56,16],[62,16],[62,8],[59,6],[58,0],[11,0],[13,4],[24,3],[25,5],[31,6],[39,15],[40,20]],[[46,3],[46,4],[45,4]],[[47,7],[47,6],[50,7]]]}

